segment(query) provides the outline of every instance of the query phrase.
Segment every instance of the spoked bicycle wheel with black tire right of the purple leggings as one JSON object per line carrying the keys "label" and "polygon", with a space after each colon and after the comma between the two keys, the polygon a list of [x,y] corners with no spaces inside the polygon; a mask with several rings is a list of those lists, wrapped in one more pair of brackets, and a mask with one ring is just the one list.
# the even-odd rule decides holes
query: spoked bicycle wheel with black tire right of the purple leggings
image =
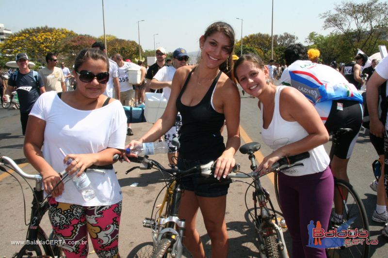
{"label": "spoked bicycle wheel with black tire right of the purple leggings", "polygon": [[[357,192],[354,190],[353,186],[343,180],[335,179],[334,181],[335,191],[339,191],[339,189],[346,189],[348,191],[347,199],[346,199],[346,208],[344,203],[342,202],[342,222],[343,224],[351,219],[354,221],[349,225],[347,229],[358,229],[367,230],[369,232],[369,224],[368,217],[364,208],[363,203],[361,202],[360,197]],[[342,191],[342,190],[340,190]],[[343,197],[342,197],[343,199]],[[334,212],[334,202],[332,207],[332,213],[329,221],[329,229],[338,228],[340,225],[337,222],[333,222],[333,212]],[[368,237],[369,239],[369,237]],[[369,257],[369,245],[365,243],[363,244],[350,244],[347,245],[344,243],[343,245],[335,248],[326,248],[326,256],[327,257],[359,257],[359,258],[368,258]]]}

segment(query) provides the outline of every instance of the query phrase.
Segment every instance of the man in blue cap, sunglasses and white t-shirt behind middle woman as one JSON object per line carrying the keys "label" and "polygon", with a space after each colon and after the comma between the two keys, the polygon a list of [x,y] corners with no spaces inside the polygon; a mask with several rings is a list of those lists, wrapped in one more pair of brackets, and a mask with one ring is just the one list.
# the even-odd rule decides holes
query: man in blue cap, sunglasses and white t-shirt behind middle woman
{"label": "man in blue cap, sunglasses and white t-shirt behind middle woman", "polygon": [[[164,66],[162,67],[156,75],[152,78],[149,83],[150,89],[158,90],[163,89],[163,96],[168,100],[171,93],[171,83],[175,74],[175,71],[179,67],[187,65],[189,56],[187,51],[181,47],[175,49],[173,53],[174,65],[173,66]],[[170,164],[177,164],[178,161],[178,152],[177,147],[172,144],[174,137],[177,137],[180,126],[182,125],[180,114],[178,113],[177,120],[175,121],[175,126],[173,126],[167,133],[164,134],[164,139],[169,146],[167,153],[168,162]]]}

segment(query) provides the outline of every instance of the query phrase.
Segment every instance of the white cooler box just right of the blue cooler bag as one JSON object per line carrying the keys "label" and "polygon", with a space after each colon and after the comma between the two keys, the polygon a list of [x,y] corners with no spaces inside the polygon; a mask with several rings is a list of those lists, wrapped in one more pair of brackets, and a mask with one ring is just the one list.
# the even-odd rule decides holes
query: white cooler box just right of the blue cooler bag
{"label": "white cooler box just right of the blue cooler bag", "polygon": [[167,106],[167,99],[163,96],[163,93],[146,92],[144,104],[144,116],[146,121],[155,123],[161,118],[164,109]]}

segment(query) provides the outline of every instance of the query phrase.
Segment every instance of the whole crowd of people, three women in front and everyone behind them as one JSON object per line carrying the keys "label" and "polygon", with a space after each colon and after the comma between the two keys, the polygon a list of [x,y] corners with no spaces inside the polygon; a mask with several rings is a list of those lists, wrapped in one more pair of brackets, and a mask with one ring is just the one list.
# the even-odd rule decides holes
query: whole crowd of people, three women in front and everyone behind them
{"label": "whole crowd of people, three women in front and everyone behind them", "polygon": [[[236,163],[234,154],[241,143],[236,83],[259,99],[261,137],[273,150],[258,171],[268,170],[283,156],[310,153],[302,161],[304,167],[280,173],[279,197],[292,238],[293,257],[323,258],[324,249],[307,246],[307,225],[311,220],[320,221],[322,228],[327,228],[329,220],[342,221],[341,211],[331,214],[336,198],[333,177],[351,181],[347,165],[363,122],[363,97],[358,90],[367,81],[371,141],[385,161],[380,180],[371,184],[378,197],[372,219],[386,223],[382,234],[388,237],[388,177],[384,174],[388,165],[388,59],[378,65],[373,60],[372,68],[364,69],[368,76],[361,76],[365,54],[357,54],[355,61],[339,70],[337,64],[330,67],[319,63],[319,50],[307,51],[295,44],[285,50],[286,65],[280,66],[274,60],[265,64],[254,54],[238,58],[233,54],[234,44],[232,27],[215,22],[199,38],[200,59],[195,65],[188,65],[189,56],[181,47],[173,52],[168,64],[165,49],[159,47],[156,62],[146,70],[142,61],[124,61],[119,53],[109,59],[101,42],[78,54],[72,72],[64,62],[62,69],[57,67],[57,57],[52,53],[46,56],[47,67],[39,72],[30,70],[26,53],[16,55],[19,70],[10,76],[5,94],[17,90],[19,95],[24,153],[43,176],[45,192],[50,194],[50,222],[64,240],[66,257],[87,256],[88,234],[98,257],[119,257],[122,195],[113,167],[106,168],[112,165],[114,154],[128,160],[127,156],[135,154],[125,153],[126,148],[155,142],[164,135],[170,164],[188,169],[216,161],[214,176],[226,177]],[[140,71],[140,83],[129,82],[128,69]],[[276,86],[279,78],[281,86]],[[122,106],[142,104],[145,92],[151,90],[161,91],[168,100],[165,111],[145,135],[126,143],[126,135],[134,133]],[[379,96],[383,99],[380,103]],[[380,113],[379,105],[383,110]],[[339,137],[329,156],[323,144],[340,128],[352,130]],[[171,144],[176,136],[179,150]],[[60,149],[67,153],[65,158]],[[89,173],[96,197],[85,200],[74,184],[61,182],[56,171],[63,170],[64,164],[66,171],[77,176],[92,165],[104,167],[105,174]],[[183,243],[193,257],[205,257],[195,229],[200,210],[212,257],[224,258],[228,253],[225,213],[229,185],[198,184],[198,177],[183,181],[185,191],[179,210],[179,217],[186,221]],[[103,241],[102,235],[109,236],[104,238],[109,241]]]}

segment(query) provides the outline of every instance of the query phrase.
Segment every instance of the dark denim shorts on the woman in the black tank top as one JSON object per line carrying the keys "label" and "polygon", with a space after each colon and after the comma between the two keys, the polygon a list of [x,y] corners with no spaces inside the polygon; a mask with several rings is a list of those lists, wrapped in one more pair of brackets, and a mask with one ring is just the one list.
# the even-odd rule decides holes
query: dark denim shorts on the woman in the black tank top
{"label": "dark denim shorts on the woman in the black tank top", "polygon": [[[210,161],[212,161],[212,159],[185,160],[179,157],[178,168],[181,170],[187,170],[197,165],[207,164]],[[183,177],[183,188],[188,191],[193,191],[196,196],[200,197],[220,197],[227,195],[229,184],[198,183],[198,179],[200,178],[202,178],[200,173]]]}

